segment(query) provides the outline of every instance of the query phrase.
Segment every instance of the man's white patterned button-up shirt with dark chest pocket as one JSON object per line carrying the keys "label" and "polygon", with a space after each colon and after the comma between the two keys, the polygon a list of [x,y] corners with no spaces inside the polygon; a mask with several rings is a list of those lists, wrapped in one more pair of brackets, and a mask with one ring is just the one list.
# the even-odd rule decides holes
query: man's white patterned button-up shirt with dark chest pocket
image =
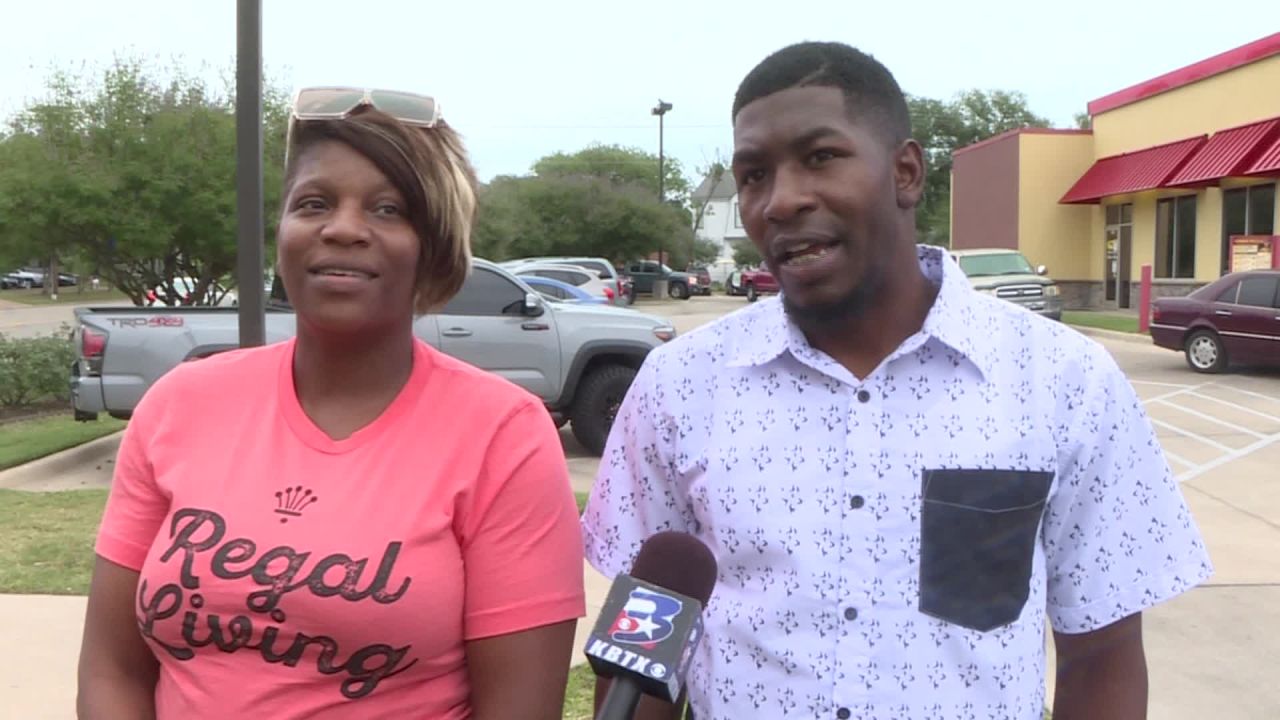
{"label": "man's white patterned button-up shirt with dark chest pocket", "polygon": [[698,720],[1039,720],[1044,624],[1094,630],[1211,574],[1142,404],[1097,343],[940,291],[870,375],[778,299],[652,352],[584,515],[613,577],[692,533],[719,575]]}

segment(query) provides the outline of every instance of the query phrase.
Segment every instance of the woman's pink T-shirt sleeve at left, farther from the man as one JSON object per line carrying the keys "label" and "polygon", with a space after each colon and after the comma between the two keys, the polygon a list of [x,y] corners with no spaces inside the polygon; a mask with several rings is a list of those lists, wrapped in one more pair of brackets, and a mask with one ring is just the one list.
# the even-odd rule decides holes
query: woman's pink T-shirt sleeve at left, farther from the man
{"label": "woman's pink T-shirt sleeve at left, farther from the man", "polygon": [[142,569],[169,512],[169,495],[156,484],[148,454],[164,415],[165,387],[168,383],[163,382],[152,386],[124,428],[111,474],[111,491],[97,530],[97,555],[131,570]]}

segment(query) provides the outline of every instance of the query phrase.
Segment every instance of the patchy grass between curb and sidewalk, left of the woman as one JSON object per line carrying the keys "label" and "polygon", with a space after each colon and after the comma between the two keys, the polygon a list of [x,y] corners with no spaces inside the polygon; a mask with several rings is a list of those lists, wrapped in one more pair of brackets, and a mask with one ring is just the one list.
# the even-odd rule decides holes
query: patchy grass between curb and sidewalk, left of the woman
{"label": "patchy grass between curb and sidewalk, left of the woman", "polygon": [[105,489],[0,489],[0,593],[88,594]]}

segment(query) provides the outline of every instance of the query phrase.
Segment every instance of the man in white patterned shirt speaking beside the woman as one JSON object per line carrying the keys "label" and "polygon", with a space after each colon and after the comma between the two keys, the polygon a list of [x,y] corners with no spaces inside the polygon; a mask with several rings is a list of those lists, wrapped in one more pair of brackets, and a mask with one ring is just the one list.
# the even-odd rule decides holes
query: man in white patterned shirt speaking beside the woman
{"label": "man in white patterned shirt speaking beside the woman", "polygon": [[1140,612],[1211,566],[1112,359],[915,245],[924,160],[872,58],[767,58],[732,164],[781,299],[650,354],[584,516],[611,577],[663,529],[716,553],[692,715],[1038,720],[1048,621],[1055,720],[1144,717]]}

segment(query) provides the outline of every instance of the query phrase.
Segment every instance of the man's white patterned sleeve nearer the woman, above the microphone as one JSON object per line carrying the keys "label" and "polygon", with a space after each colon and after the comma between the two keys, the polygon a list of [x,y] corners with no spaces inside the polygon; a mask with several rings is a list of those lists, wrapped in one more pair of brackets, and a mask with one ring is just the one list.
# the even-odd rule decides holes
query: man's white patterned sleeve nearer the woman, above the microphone
{"label": "man's white patterned sleeve nearer the woman, above the microphone", "polygon": [[649,354],[618,409],[582,514],[588,561],[607,578],[631,568],[640,546],[663,530],[692,532],[676,464],[676,430],[659,382],[667,356]]}

